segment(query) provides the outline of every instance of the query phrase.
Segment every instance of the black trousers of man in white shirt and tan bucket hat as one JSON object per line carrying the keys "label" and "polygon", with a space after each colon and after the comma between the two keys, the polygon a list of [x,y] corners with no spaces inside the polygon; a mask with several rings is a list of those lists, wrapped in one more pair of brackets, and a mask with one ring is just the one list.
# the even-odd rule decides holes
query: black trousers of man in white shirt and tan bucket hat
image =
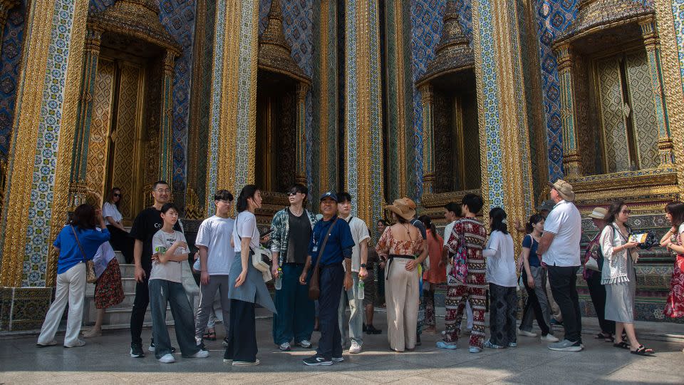
{"label": "black trousers of man in white shirt and tan bucket hat", "polygon": [[549,284],[556,304],[563,314],[565,339],[571,342],[582,341],[582,314],[579,310],[577,295],[577,269],[579,266],[548,266]]}

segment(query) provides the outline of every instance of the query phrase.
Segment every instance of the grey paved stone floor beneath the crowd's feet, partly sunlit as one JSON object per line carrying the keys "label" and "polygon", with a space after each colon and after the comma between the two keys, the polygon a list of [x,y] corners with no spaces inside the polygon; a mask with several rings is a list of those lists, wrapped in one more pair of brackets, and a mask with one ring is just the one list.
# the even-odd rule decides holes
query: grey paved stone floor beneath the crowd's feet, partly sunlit
{"label": "grey paved stone floor beneath the crowd's feet, partly sunlit", "polygon": [[[160,364],[153,354],[130,358],[127,331],[105,332],[74,349],[38,349],[35,336],[5,337],[0,339],[0,384],[684,384],[681,344],[644,341],[656,354],[641,357],[589,334],[580,353],[550,351],[536,338],[519,337],[517,348],[470,354],[467,342],[445,351],[435,348],[436,334],[423,334],[423,346],[398,354],[387,348],[384,316],[377,314],[375,322],[383,334],[364,336],[361,354],[345,352],[344,362],[318,367],[301,363],[311,351],[279,351],[271,342],[270,319],[257,321],[261,365],[247,368],[223,364],[220,341],[207,343],[211,355],[206,359],[176,354],[175,364]],[[442,323],[438,319],[437,326]],[[149,341],[149,329],[143,339]]]}

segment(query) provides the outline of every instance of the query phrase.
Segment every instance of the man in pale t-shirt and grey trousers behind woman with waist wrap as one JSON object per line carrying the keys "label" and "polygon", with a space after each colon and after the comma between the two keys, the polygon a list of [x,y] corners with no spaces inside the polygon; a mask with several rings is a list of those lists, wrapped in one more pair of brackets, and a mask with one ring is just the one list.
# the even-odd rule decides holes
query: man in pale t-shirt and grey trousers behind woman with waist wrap
{"label": "man in pale t-shirt and grey trousers behind woman with waist wrap", "polygon": [[228,279],[230,266],[235,257],[234,247],[230,245],[235,220],[228,217],[233,195],[228,190],[218,190],[214,194],[216,215],[202,221],[197,231],[195,245],[199,248],[199,308],[195,320],[195,341],[205,350],[202,335],[212,314],[216,292],[221,297],[223,326],[228,335],[230,299]]}

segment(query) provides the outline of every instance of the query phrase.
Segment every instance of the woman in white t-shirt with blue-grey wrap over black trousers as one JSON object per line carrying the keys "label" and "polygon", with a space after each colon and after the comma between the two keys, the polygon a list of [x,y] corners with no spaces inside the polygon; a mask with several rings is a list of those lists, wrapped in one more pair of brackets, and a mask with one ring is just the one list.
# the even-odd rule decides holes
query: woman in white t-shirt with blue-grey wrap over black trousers
{"label": "woman in white t-shirt with blue-grey wrap over black trousers", "polygon": [[258,365],[257,325],[254,304],[276,312],[261,272],[252,265],[252,250],[260,247],[257,217],[254,211],[261,207],[261,191],[255,185],[246,185],[237,197],[237,217],[233,227],[235,257],[230,267],[228,282],[234,282],[230,297],[230,327],[224,362],[233,366]]}

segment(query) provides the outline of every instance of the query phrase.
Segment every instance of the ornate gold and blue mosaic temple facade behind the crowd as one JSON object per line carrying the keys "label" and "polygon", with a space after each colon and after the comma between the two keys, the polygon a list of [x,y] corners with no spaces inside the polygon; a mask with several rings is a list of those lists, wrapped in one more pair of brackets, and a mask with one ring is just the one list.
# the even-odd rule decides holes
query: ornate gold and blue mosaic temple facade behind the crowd
{"label": "ornate gold and blue mosaic temple facade behind the crowd", "polygon": [[[0,30],[0,331],[40,327],[53,238],[114,186],[130,225],[167,180],[190,232],[248,183],[262,225],[300,182],[372,228],[470,192],[524,221],[564,178],[659,236],[684,192],[682,0],[0,0]],[[676,322],[672,265],[642,253],[639,319]]]}

